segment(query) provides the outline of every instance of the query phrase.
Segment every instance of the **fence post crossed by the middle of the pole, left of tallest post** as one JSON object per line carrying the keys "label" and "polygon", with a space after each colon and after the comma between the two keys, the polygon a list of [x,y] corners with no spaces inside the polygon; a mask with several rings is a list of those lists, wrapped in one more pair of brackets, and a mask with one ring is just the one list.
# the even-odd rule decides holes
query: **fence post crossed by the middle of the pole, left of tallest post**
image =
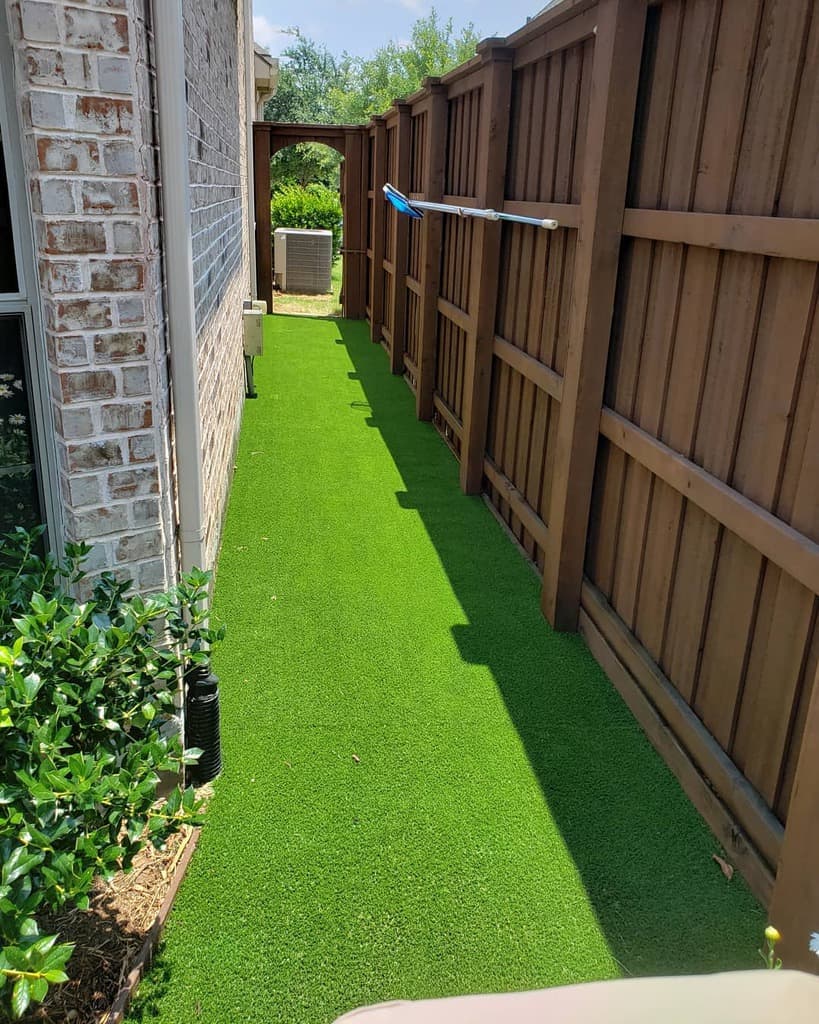
{"label": "fence post crossed by the middle of the pole, left of tallest post", "polygon": [[[509,118],[512,106],[514,51],[502,39],[484,39],[478,53],[486,63],[481,103],[480,148],[477,153],[478,206],[501,209],[504,204]],[[498,273],[501,262],[501,224],[477,220],[470,266],[469,311],[474,329],[467,339],[464,367],[464,403],[461,442],[461,487],[468,495],[483,487],[483,458],[489,417]]]}

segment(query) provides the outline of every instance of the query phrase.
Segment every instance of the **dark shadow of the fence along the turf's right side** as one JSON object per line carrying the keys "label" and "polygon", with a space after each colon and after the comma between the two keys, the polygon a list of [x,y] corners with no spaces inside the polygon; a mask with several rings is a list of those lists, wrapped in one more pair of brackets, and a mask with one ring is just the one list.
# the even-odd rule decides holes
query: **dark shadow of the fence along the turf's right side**
{"label": "dark shadow of the fence along the turf's right side", "polygon": [[[538,583],[508,539],[487,565],[501,526],[482,499],[460,494],[451,454],[415,420],[408,388],[365,325],[336,324],[371,410],[361,429],[380,431],[405,485],[396,500],[418,511],[468,618],[452,627],[459,650],[491,671],[623,972],[753,967],[764,921],[744,883],[719,873],[719,844],[583,640],[543,618]],[[750,910],[744,935],[730,930],[737,900]]]}

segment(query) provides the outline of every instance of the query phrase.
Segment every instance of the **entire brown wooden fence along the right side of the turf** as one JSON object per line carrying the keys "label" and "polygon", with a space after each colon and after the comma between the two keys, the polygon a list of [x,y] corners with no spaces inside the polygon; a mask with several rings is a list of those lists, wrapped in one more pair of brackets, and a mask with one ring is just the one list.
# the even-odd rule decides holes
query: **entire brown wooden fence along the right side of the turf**
{"label": "entire brown wooden fence along the right side of the turf", "polygon": [[[373,339],[814,965],[814,0],[564,0],[364,163]],[[560,227],[411,221],[387,180]]]}

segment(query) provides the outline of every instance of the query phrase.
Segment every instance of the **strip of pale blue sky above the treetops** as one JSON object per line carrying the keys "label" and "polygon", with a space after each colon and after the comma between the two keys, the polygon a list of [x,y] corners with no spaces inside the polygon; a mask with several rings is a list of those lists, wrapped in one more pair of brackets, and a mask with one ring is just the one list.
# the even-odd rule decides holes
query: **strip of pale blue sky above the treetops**
{"label": "strip of pale blue sky above the treetops", "polygon": [[[473,22],[481,37],[506,36],[537,13],[547,0],[438,0],[435,9],[456,27]],[[426,0],[253,0],[256,41],[277,55],[289,42],[283,30],[297,26],[303,35],[333,53],[367,56],[389,39],[410,38],[418,17],[429,13]]]}

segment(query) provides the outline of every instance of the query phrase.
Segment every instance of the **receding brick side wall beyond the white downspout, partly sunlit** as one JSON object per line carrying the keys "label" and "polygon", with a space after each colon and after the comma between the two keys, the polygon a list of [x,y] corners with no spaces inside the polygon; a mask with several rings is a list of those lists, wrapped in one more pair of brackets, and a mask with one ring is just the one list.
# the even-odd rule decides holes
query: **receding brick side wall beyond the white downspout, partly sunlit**
{"label": "receding brick side wall beyond the white downspout, partly sunlit", "polygon": [[218,548],[244,404],[242,302],[250,296],[250,239],[243,4],[185,0],[184,25],[210,563]]}

